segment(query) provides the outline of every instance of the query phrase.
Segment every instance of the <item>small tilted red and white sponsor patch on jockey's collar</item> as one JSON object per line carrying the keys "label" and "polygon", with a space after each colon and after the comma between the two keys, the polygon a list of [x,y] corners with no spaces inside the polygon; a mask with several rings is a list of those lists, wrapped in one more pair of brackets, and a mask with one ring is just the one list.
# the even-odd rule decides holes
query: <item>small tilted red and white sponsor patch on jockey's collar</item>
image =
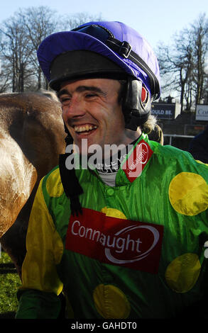
{"label": "small tilted red and white sponsor patch on jockey's collar", "polygon": [[152,154],[153,150],[144,140],[141,140],[141,142],[134,147],[133,152],[122,166],[126,177],[131,183],[141,175],[143,168],[146,166]]}

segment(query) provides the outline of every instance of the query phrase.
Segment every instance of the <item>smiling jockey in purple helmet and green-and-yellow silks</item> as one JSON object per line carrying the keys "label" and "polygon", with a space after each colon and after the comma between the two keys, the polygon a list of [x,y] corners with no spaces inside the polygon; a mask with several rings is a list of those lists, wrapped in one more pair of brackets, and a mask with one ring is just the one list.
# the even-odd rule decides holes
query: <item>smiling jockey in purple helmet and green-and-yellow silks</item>
{"label": "smiling jockey in purple helmet and green-and-yellow silks", "polygon": [[58,318],[62,290],[75,319],[206,317],[208,169],[141,132],[160,96],[153,50],[124,23],[89,22],[38,60],[67,147],[35,196],[16,317]]}

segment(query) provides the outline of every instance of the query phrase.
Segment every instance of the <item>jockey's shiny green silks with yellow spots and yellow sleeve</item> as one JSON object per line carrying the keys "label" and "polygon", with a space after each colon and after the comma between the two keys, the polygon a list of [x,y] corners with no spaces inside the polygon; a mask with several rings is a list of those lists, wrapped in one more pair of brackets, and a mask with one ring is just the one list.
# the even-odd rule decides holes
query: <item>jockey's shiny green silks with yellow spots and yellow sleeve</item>
{"label": "jockey's shiny green silks with yellow spots and yellow sleeve", "polygon": [[[114,187],[104,184],[96,171],[76,170],[84,191],[82,208],[102,217],[89,218],[85,226],[79,218],[70,225],[70,203],[58,167],[41,181],[28,227],[17,317],[27,317],[27,307],[37,304],[40,291],[50,299],[63,290],[75,318],[172,318],[207,298],[208,166],[180,149],[149,141],[146,135],[137,145],[141,140],[153,154],[133,181],[122,167]],[[125,228],[112,235],[105,221],[119,221],[120,226],[124,221]],[[69,230],[77,247],[81,241],[86,246],[92,240],[102,242],[102,254],[95,259],[84,249],[80,253],[66,249]],[[137,256],[131,257],[131,251]],[[104,255],[116,258],[115,263],[104,262]],[[151,273],[154,258],[158,270]],[[142,269],[131,268],[133,260]],[[141,266],[142,261],[147,264]],[[38,305],[34,309],[40,312]]]}

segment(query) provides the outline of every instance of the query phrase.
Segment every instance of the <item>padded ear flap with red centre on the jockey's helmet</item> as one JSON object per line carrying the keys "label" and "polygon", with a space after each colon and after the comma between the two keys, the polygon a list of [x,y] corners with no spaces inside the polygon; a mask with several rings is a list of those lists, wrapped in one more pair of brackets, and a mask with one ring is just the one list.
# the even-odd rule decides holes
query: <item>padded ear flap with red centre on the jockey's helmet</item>
{"label": "padded ear flap with red centre on the jockey's helmet", "polygon": [[128,77],[122,108],[125,127],[129,130],[137,130],[138,126],[146,123],[150,114],[151,101],[150,94],[141,81]]}

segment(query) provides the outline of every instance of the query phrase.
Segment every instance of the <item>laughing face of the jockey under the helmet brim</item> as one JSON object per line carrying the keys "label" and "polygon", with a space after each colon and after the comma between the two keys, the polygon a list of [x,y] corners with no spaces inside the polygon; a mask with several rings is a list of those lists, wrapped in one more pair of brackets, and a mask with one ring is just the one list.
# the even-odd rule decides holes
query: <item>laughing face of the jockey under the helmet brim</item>
{"label": "laughing face of the jockey under the helmet brim", "polygon": [[128,145],[124,115],[118,102],[121,84],[113,79],[80,79],[62,84],[58,96],[62,118],[82,151],[82,139],[90,145]]}

